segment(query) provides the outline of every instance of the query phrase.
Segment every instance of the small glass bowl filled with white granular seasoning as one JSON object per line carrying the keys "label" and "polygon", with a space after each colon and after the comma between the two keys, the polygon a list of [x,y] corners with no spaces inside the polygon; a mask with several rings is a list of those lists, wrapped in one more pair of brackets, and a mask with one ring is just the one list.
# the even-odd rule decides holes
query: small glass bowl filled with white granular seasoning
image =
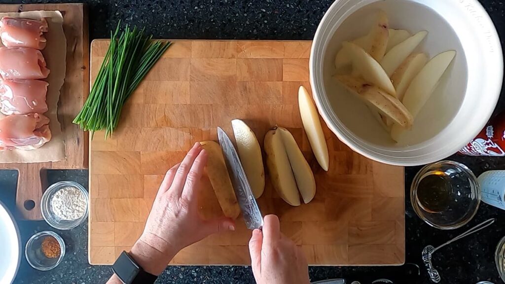
{"label": "small glass bowl filled with white granular seasoning", "polygon": [[[86,200],[86,211],[84,214],[75,220],[63,220],[56,216],[51,208],[51,198],[54,194],[56,194],[59,190],[65,187],[75,187],[77,188],[83,195]],[[89,199],[88,192],[85,188],[75,181],[59,181],[49,186],[47,190],[42,195],[42,200],[40,202],[40,211],[42,212],[42,217],[47,222],[47,224],[51,225],[53,228],[60,230],[69,230],[80,225],[88,216],[88,207],[89,207]]]}

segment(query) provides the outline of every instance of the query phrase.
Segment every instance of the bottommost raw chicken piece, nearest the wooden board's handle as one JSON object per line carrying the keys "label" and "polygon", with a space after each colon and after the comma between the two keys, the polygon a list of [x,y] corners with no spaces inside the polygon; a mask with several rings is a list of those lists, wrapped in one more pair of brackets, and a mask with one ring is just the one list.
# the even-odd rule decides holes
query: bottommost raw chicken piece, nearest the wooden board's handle
{"label": "bottommost raw chicken piece, nearest the wooden board's handle", "polygon": [[0,120],[0,151],[35,150],[51,140],[49,119],[38,113],[13,114]]}

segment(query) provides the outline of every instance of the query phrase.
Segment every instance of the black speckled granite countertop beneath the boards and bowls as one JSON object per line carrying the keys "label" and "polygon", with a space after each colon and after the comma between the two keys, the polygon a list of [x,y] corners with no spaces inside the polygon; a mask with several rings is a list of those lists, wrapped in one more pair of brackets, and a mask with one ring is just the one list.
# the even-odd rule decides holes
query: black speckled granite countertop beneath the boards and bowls
{"label": "black speckled granite countertop beneath the boards and bowls", "polygon": [[[0,1],[19,3],[18,1]],[[23,1],[23,3],[52,3],[60,1]],[[65,1],[63,1],[65,2]],[[119,20],[146,28],[159,38],[198,39],[312,39],[317,25],[332,0],[90,0],[90,37],[108,37]],[[503,45],[505,38],[505,4],[502,0],[480,0],[497,26]],[[503,94],[503,92],[502,92]],[[502,96],[495,113],[505,110]],[[468,165],[476,175],[505,169],[505,158],[472,158],[453,156],[452,160]],[[406,196],[410,183],[420,167],[406,169]],[[14,210],[17,172],[0,171],[0,200]],[[87,170],[48,171],[49,184],[59,180],[74,180],[86,188]],[[442,283],[476,283],[489,280],[500,283],[494,264],[494,250],[505,236],[505,212],[481,203],[475,218],[464,228],[441,231],[429,227],[414,213],[406,200],[407,263],[421,267],[421,275],[411,281],[399,276],[413,267],[310,267],[311,280],[346,278],[370,283],[378,278],[395,279],[397,283],[429,283],[422,267],[424,246],[440,245],[483,220],[496,222],[481,232],[453,243],[438,251],[433,262]],[[35,232],[50,229],[44,221],[18,220],[23,246]],[[58,230],[57,230],[58,231]],[[104,283],[111,275],[107,266],[90,266],[87,261],[87,224],[70,231],[58,231],[67,244],[63,262],[51,271],[37,271],[22,258],[16,283]],[[252,283],[249,267],[244,266],[170,266],[160,276],[159,283]]]}

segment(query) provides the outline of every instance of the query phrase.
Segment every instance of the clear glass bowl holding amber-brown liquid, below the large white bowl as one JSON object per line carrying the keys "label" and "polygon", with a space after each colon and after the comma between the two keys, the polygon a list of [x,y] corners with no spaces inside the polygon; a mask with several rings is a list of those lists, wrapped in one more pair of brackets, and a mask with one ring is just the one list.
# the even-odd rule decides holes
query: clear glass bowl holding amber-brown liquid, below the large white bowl
{"label": "clear glass bowl holding amber-brown liquid, below the large white bowl", "polygon": [[440,161],[422,168],[411,185],[416,214],[439,229],[456,229],[472,220],[480,204],[477,177],[465,165]]}

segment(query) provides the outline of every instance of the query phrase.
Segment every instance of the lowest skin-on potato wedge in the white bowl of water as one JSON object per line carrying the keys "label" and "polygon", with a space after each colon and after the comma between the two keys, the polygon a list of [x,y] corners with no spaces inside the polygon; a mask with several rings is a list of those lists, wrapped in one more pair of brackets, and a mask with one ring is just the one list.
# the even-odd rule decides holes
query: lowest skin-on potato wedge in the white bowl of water
{"label": "lowest skin-on potato wedge in the white bowl of water", "polygon": [[367,81],[349,75],[335,76],[349,91],[360,99],[373,106],[380,114],[390,118],[395,123],[405,128],[412,126],[410,112],[390,94]]}

